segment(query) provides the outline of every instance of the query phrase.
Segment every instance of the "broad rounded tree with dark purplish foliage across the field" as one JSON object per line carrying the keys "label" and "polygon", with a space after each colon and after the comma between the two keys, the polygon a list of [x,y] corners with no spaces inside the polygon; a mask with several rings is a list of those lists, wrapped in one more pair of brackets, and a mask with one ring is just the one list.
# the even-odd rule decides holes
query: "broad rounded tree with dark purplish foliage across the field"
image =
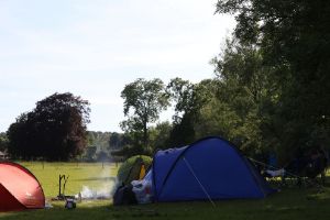
{"label": "broad rounded tree with dark purplish foliage across the field", "polygon": [[54,94],[33,111],[21,114],[8,130],[9,150],[23,158],[66,161],[87,145],[89,103],[80,97]]}

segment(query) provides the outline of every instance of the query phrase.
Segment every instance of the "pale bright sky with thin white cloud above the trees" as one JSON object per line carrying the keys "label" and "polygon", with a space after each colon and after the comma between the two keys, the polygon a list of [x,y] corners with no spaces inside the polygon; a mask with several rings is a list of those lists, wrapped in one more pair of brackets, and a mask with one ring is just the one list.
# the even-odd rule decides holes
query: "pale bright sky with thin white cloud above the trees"
{"label": "pale bright sky with thin white cloud above the trees", "polygon": [[88,130],[120,132],[120,94],[136,78],[212,78],[209,62],[234,26],[216,2],[0,0],[0,132],[67,91],[90,102]]}

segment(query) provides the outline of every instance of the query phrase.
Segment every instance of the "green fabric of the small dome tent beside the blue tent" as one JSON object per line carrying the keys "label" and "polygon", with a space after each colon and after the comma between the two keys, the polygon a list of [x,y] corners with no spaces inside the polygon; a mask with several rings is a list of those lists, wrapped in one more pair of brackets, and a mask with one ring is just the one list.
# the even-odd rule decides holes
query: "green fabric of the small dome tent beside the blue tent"
{"label": "green fabric of the small dome tent beside the blue tent", "polygon": [[117,178],[119,183],[130,184],[139,178],[141,163],[144,163],[145,169],[152,164],[152,157],[145,155],[136,155],[128,158],[118,169]]}

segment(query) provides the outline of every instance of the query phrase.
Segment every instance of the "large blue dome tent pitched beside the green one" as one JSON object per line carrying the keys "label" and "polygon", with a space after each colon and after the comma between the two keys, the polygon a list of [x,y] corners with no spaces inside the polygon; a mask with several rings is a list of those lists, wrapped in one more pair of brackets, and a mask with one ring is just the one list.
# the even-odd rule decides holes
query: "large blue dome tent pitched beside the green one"
{"label": "large blue dome tent pitched beside the green one", "polygon": [[238,148],[219,136],[158,151],[152,178],[156,201],[264,198],[274,191]]}

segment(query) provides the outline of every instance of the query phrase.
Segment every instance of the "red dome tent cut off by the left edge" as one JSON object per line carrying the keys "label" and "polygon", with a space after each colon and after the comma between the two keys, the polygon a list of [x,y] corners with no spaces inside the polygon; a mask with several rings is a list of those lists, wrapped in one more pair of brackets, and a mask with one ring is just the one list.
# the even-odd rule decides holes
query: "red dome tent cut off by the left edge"
{"label": "red dome tent cut off by the left edge", "polygon": [[44,207],[45,195],[35,176],[19,164],[0,162],[0,211]]}

